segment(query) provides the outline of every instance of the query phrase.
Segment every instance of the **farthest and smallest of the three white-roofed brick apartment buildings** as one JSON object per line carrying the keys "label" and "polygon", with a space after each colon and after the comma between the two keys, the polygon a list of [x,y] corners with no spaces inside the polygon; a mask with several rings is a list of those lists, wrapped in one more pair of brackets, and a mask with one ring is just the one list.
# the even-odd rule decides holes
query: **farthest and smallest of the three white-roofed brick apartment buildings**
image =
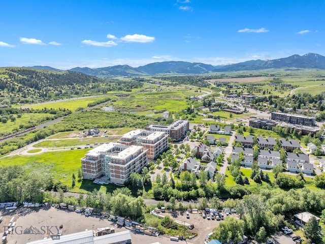
{"label": "farthest and smallest of the three white-roofed brick apartment buildings", "polygon": [[189,130],[188,120],[176,120],[170,126],[150,125],[145,128],[147,131],[160,131],[168,134],[172,140],[180,140],[186,136]]}

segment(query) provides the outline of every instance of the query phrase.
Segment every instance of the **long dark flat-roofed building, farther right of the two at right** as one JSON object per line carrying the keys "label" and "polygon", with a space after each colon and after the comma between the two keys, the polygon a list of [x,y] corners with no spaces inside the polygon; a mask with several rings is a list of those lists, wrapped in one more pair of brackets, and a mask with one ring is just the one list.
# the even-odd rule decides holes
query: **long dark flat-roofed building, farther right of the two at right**
{"label": "long dark flat-roofed building, farther right of the two at right", "polygon": [[316,118],[299,114],[272,112],[271,119],[303,126],[314,126],[316,124]]}

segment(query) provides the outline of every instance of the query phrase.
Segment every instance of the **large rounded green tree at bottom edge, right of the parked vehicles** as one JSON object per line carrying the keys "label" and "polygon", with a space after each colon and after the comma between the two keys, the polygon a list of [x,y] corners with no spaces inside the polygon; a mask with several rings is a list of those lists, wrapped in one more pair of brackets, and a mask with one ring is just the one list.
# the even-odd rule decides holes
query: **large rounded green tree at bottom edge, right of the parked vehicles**
{"label": "large rounded green tree at bottom edge, right of the parked vehicles", "polygon": [[244,222],[234,217],[227,217],[220,222],[220,225],[214,231],[212,238],[221,242],[241,241],[244,234]]}

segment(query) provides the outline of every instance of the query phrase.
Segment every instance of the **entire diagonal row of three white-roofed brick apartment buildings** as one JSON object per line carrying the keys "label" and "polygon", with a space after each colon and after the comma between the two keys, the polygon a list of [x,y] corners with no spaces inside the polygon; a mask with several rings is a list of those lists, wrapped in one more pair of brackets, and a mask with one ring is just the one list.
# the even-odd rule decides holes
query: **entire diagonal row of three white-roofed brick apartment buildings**
{"label": "entire diagonal row of three white-roofed brick apartment buildings", "polygon": [[147,166],[148,159],[157,158],[168,148],[168,136],[179,140],[188,130],[189,121],[177,120],[168,127],[151,125],[134,130],[118,142],[95,147],[81,159],[83,178],[123,185],[131,173]]}

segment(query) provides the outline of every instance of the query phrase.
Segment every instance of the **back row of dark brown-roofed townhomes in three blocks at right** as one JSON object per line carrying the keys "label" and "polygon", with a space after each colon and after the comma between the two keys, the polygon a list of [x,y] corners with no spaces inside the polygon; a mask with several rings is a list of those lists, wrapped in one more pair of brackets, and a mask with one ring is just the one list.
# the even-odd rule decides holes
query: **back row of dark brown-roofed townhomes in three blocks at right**
{"label": "back row of dark brown-roofed townhomes in three blocks at right", "polygon": [[[254,137],[251,135],[243,136],[243,135],[236,135],[235,142],[240,142],[243,147],[252,148],[254,145]],[[276,145],[276,139],[273,137],[264,138],[262,136],[257,137],[256,144],[259,148],[268,148],[273,150],[274,146]],[[285,140],[284,138],[279,139],[280,147],[283,147],[285,151],[293,152],[295,149],[300,148],[300,142],[295,139]]]}

